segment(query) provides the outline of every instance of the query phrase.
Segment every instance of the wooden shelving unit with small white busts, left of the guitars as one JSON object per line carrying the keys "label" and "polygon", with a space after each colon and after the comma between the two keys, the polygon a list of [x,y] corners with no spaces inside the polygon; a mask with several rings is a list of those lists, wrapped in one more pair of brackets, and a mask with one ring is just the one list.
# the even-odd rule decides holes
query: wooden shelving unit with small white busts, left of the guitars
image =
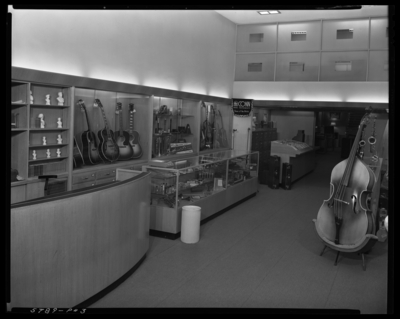
{"label": "wooden shelving unit with small white busts, left of the guitars", "polygon": [[[57,105],[58,92],[62,93],[63,105]],[[50,95],[50,105],[45,104],[46,95]],[[11,182],[11,203],[43,196],[43,181],[37,179],[39,175],[60,175],[61,181],[66,181],[70,154],[70,100],[68,87],[12,81],[11,112],[18,116],[14,117],[16,127],[11,128],[11,167],[18,170],[22,180]],[[39,114],[44,116],[45,128],[40,128]],[[62,128],[58,128],[59,118]],[[58,135],[63,139],[62,144],[57,144]],[[43,145],[43,137],[46,137],[47,145]],[[50,158],[46,154],[48,149]],[[57,149],[61,151],[60,157],[57,157]]]}

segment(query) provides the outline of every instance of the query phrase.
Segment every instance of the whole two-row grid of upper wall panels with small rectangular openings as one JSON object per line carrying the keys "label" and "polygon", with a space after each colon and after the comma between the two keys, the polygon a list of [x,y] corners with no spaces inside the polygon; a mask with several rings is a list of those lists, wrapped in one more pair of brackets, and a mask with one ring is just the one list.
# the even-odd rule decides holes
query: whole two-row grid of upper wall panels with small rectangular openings
{"label": "whole two-row grid of upper wall panels with small rectangular openings", "polygon": [[[275,33],[261,34],[262,28],[268,26],[272,31],[274,25]],[[241,25],[237,30],[235,81],[388,81],[388,62],[382,62],[385,53],[372,53],[388,51],[388,18],[385,16]],[[256,41],[257,37],[270,43],[268,49],[252,46],[250,42]],[[307,59],[311,52],[316,53],[316,60],[312,63],[313,75],[299,77],[299,74],[306,74],[308,66],[308,63],[301,66],[301,60]],[[327,68],[324,63],[331,52],[350,56],[354,53],[362,57],[349,63],[347,68],[344,65],[335,67],[333,63],[333,70],[337,73],[329,75],[332,67]],[[282,56],[289,53],[300,57],[300,60],[289,62],[300,63],[288,62],[283,66]],[[260,58],[267,55],[274,57],[269,59],[268,66]],[[270,70],[268,74],[266,69]],[[344,69],[348,72],[343,72]],[[282,72],[287,74],[282,76]]]}

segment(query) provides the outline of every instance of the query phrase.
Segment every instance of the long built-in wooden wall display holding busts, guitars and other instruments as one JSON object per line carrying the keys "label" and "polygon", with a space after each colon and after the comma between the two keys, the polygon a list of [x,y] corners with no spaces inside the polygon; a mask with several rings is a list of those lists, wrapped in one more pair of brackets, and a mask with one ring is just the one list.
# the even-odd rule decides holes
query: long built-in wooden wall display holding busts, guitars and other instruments
{"label": "long built-in wooden wall display holding busts, guitars and other instruments", "polygon": [[[57,175],[49,184],[62,181],[58,190],[65,191],[115,182],[117,168],[140,170],[152,158],[179,159],[231,147],[230,99],[154,93],[165,90],[13,68],[10,154],[18,173],[11,182],[11,203],[43,196],[40,175]],[[211,139],[200,150],[204,105]]]}

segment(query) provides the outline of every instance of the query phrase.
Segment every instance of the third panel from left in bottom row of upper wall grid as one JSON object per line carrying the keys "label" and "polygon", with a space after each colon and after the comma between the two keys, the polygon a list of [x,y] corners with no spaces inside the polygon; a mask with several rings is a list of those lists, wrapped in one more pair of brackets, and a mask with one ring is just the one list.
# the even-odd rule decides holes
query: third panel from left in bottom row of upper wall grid
{"label": "third panel from left in bottom row of upper wall grid", "polygon": [[320,81],[366,81],[367,51],[322,52]]}

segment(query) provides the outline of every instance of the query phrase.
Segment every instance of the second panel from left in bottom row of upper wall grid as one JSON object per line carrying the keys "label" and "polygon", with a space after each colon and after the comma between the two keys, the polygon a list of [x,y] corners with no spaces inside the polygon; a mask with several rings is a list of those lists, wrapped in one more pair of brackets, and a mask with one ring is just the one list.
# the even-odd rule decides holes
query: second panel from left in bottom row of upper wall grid
{"label": "second panel from left in bottom row of upper wall grid", "polygon": [[319,52],[278,53],[276,81],[318,81]]}

